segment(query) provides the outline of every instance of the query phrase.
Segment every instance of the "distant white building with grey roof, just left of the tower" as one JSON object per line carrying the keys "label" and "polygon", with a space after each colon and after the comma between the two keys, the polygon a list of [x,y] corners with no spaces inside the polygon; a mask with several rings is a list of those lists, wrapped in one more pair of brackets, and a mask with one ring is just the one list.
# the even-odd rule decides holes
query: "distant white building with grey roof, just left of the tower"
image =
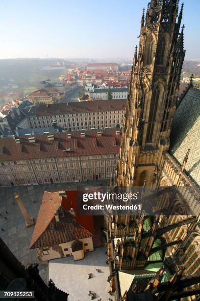
{"label": "distant white building with grey roof, just left of the tower", "polygon": [[[112,99],[126,99],[128,95],[128,88],[111,88]],[[88,92],[93,99],[108,99],[108,88],[94,88],[93,91]]]}

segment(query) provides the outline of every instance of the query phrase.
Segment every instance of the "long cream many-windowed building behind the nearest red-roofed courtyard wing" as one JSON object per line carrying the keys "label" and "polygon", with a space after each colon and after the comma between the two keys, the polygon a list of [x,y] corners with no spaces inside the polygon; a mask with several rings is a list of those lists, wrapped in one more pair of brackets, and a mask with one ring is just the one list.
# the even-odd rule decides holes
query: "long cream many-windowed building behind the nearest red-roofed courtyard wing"
{"label": "long cream many-windowed building behind the nearest red-roofed courtyard wing", "polygon": [[120,127],[124,121],[125,105],[126,99],[115,99],[32,106],[22,109],[26,117],[16,126],[30,131],[54,124],[67,131]]}

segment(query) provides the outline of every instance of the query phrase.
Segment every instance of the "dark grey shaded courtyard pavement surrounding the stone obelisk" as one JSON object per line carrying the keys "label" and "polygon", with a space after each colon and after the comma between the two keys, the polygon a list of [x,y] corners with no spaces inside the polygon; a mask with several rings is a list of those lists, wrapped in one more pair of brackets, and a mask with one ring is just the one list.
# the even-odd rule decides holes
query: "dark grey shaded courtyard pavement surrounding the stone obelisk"
{"label": "dark grey shaded courtyard pavement surrounding the stone obelisk", "polygon": [[[78,185],[88,187],[100,185],[100,183],[106,185],[107,181],[79,182]],[[0,187],[0,229],[3,229],[3,231],[0,230],[0,237],[23,265],[34,262],[39,263],[40,275],[45,282],[47,281],[47,265],[41,265],[36,257],[36,251],[29,249],[34,226],[26,228],[24,217],[13,196],[15,192],[20,194],[25,208],[36,221],[45,190],[73,189],[76,186],[77,183],[67,182]]]}

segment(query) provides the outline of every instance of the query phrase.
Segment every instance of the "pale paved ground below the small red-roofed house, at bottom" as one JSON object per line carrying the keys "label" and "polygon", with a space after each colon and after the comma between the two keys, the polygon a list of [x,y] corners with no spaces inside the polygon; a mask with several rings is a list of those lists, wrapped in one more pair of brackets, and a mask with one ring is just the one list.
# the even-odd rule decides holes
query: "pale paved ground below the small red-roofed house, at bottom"
{"label": "pale paved ground below the small red-roofed house, at bottom", "polygon": [[[106,248],[96,248],[94,252],[86,252],[85,258],[74,261],[73,256],[50,260],[49,277],[55,285],[69,294],[69,301],[89,301],[89,291],[96,293],[94,300],[107,301],[110,296],[110,284],[107,282],[109,267],[106,265]],[[101,272],[96,271],[100,269]],[[88,279],[88,274],[93,277]]]}

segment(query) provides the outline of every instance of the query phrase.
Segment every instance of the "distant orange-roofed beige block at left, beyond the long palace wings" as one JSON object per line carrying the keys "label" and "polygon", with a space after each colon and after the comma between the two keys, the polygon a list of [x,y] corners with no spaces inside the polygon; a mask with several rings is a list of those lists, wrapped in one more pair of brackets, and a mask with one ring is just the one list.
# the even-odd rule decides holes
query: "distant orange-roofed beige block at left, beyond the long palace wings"
{"label": "distant orange-roofed beige block at left, beyond the long palace wings", "polygon": [[33,103],[51,104],[60,101],[60,92],[54,88],[47,87],[30,93],[26,98]]}

